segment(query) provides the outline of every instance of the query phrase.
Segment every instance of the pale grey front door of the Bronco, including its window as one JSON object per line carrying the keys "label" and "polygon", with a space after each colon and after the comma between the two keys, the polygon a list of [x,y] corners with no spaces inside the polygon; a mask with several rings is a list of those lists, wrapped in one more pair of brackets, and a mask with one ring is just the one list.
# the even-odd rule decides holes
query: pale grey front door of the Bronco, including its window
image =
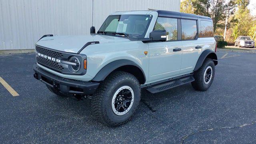
{"label": "pale grey front door of the Bronco, including its window", "polygon": [[177,41],[177,19],[158,17],[154,30],[166,30],[166,42],[150,42],[149,82],[164,80],[180,74],[182,44]]}

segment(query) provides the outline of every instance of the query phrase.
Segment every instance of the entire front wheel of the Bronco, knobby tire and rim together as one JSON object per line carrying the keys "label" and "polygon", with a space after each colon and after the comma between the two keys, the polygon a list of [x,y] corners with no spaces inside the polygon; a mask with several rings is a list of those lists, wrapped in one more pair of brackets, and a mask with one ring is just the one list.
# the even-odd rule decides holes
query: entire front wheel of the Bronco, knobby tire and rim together
{"label": "entire front wheel of the Bronco, knobby tire and rim together", "polygon": [[100,122],[118,126],[130,120],[140,102],[140,83],[130,73],[117,71],[104,80],[92,97],[92,109]]}

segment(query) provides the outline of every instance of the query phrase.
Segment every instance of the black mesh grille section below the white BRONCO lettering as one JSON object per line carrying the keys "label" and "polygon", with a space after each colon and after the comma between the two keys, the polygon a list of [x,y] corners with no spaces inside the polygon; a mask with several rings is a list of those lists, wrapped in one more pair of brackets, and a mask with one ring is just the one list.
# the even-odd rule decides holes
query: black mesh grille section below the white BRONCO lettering
{"label": "black mesh grille section below the white BRONCO lettering", "polygon": [[54,69],[54,70],[58,70],[58,71],[62,71],[64,68],[59,65],[58,62],[54,62],[52,60],[49,60],[47,58],[43,58],[41,56],[36,56],[36,62],[38,64],[41,64],[43,66],[46,66],[47,68],[51,68],[51,69]]}

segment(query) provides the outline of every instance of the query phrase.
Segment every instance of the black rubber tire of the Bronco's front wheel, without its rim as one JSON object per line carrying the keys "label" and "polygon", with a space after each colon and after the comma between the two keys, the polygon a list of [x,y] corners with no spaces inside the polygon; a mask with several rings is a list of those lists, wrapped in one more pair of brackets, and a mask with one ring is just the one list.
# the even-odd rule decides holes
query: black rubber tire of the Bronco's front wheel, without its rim
{"label": "black rubber tire of the Bronco's front wheel, without its rim", "polygon": [[[124,115],[116,115],[112,110],[112,98],[122,86],[130,86],[134,92],[134,101]],[[92,96],[92,110],[97,120],[108,125],[118,126],[126,123],[136,111],[140,102],[141,90],[138,79],[130,73],[116,71],[110,74]]]}

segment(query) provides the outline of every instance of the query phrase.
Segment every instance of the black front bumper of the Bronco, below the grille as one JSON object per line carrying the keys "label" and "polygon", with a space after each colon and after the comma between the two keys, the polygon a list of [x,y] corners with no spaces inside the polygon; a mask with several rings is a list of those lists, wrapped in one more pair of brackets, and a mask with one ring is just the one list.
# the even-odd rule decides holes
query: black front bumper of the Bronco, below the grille
{"label": "black front bumper of the Bronco, below the grille", "polygon": [[35,71],[34,78],[52,88],[59,90],[63,94],[90,95],[96,91],[100,84],[98,82],[83,82],[79,80],[62,78],[47,72],[42,68],[39,68],[37,64],[34,64],[33,68]]}

